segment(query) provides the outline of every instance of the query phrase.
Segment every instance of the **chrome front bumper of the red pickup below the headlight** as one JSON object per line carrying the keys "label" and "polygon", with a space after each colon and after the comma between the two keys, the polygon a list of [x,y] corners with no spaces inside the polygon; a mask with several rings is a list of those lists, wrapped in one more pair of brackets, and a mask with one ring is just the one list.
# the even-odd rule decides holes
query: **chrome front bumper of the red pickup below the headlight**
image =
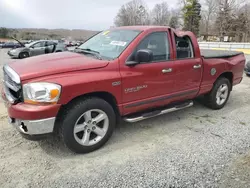
{"label": "chrome front bumper of the red pickup below the headlight", "polygon": [[21,133],[28,135],[41,135],[53,132],[55,119],[55,117],[39,120],[19,120],[9,118],[9,123]]}

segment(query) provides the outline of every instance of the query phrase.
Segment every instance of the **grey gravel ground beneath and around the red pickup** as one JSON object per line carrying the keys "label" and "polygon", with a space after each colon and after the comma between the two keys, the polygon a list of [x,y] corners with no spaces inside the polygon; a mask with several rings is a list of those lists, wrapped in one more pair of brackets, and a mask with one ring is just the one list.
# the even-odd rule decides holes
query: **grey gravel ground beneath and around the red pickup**
{"label": "grey gravel ground beneath and around the red pickup", "polygon": [[70,153],[56,138],[23,139],[0,103],[1,187],[249,187],[249,83],[244,77],[220,111],[195,102],[122,123],[102,149],[85,155]]}

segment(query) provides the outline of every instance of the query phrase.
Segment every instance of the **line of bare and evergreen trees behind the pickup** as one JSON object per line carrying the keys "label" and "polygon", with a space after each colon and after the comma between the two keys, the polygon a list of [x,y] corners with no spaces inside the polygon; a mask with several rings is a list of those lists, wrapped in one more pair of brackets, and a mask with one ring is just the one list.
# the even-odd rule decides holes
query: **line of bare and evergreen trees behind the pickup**
{"label": "line of bare and evergreen trees behind the pickup", "polygon": [[250,0],[179,0],[176,8],[167,2],[149,9],[143,0],[132,0],[121,6],[116,26],[162,25],[192,31],[203,40],[225,36],[230,41],[250,41]]}

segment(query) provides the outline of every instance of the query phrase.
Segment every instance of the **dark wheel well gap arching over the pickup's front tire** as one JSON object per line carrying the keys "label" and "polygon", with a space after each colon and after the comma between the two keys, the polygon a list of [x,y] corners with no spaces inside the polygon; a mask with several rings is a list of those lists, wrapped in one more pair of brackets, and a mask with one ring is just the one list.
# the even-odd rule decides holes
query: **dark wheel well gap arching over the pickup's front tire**
{"label": "dark wheel well gap arching over the pickup's front tire", "polygon": [[[116,117],[117,117],[116,118],[117,122],[120,121],[120,118],[119,118],[120,117],[120,111],[119,111],[118,106],[117,106],[116,98],[111,93],[108,93],[108,92],[93,92],[93,93],[87,93],[87,94],[75,97],[69,103],[67,103],[66,105],[63,105],[61,107],[61,109],[59,110],[59,112],[58,112],[57,122],[60,121],[62,114],[64,114],[64,112],[65,112],[65,110],[67,108],[70,108],[70,106],[73,105],[74,103],[76,103],[78,100],[83,100],[84,98],[89,98],[89,97],[101,98],[101,99],[105,100],[106,102],[108,102],[113,107],[113,109],[115,111],[115,114],[116,114]],[[60,125],[57,123],[56,126],[55,126],[54,131],[57,131],[59,126]]]}

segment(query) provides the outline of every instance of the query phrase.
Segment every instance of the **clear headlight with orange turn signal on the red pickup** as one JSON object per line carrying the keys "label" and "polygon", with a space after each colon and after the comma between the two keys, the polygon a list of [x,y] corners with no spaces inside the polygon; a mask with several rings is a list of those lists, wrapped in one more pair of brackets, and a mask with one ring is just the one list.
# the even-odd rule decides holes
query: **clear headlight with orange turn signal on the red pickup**
{"label": "clear headlight with orange turn signal on the red pickup", "polygon": [[24,102],[29,104],[55,104],[59,100],[61,86],[37,82],[23,85]]}

